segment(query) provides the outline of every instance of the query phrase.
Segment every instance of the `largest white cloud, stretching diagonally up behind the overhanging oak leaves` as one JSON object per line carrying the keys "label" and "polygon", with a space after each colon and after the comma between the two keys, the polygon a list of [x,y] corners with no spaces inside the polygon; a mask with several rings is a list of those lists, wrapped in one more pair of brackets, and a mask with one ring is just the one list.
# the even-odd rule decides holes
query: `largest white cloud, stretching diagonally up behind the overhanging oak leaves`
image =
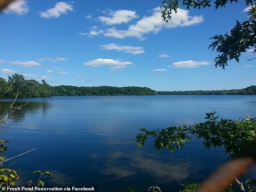
{"label": "largest white cloud, stretching diagonally up behind the overhanging oak leaves", "polygon": [[90,37],[92,37],[103,33],[104,36],[111,38],[135,37],[140,40],[144,40],[144,35],[147,33],[158,33],[163,28],[186,27],[203,21],[203,16],[190,16],[188,10],[178,8],[177,13],[172,15],[172,20],[166,23],[161,18],[161,10],[159,8],[155,8],[153,9],[151,16],[143,17],[136,24],[130,25],[126,30],[111,27],[105,30],[91,30],[90,34],[83,34],[88,36],[90,35]]}

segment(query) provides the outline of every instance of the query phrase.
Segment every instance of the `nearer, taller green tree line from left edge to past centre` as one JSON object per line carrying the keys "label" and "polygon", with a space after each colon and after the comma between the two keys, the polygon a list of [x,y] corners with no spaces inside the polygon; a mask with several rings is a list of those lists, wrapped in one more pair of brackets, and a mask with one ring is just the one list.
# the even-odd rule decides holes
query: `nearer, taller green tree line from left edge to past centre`
{"label": "nearer, taller green tree line from left edge to past centre", "polygon": [[[8,90],[8,88],[10,89]],[[6,92],[8,90],[8,92]],[[110,95],[157,95],[155,90],[141,87],[77,87],[77,86],[50,86],[44,79],[42,83],[31,79],[25,80],[23,75],[15,73],[8,76],[8,81],[0,77],[1,98],[14,98],[19,90],[19,98],[49,97],[49,96],[110,96]]]}

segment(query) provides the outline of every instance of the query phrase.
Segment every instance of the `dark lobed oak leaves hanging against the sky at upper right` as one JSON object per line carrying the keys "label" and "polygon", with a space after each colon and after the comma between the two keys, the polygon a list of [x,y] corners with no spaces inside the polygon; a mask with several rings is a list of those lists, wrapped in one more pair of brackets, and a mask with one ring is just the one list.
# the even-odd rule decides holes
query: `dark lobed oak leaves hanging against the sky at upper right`
{"label": "dark lobed oak leaves hanging against the sky at upper right", "polygon": [[[172,18],[172,14],[177,13],[179,8],[179,0],[162,0],[162,19],[166,22]],[[238,0],[215,0],[214,7],[218,9],[225,7],[230,2],[238,2]],[[189,10],[189,8],[206,8],[211,6],[211,0],[182,0],[181,4]],[[239,63],[239,57],[242,52],[252,48],[256,52],[256,0],[246,0],[245,6],[251,6],[248,16],[248,21],[240,23],[236,21],[236,25],[229,33],[224,35],[214,35],[210,39],[214,40],[209,48],[220,54],[214,59],[215,67],[222,67],[225,69],[227,61],[235,59]]]}

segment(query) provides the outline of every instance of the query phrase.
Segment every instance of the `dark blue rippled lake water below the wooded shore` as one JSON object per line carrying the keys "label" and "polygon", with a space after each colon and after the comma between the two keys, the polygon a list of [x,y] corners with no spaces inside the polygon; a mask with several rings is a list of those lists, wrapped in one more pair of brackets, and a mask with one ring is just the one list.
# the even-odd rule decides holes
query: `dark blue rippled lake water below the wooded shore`
{"label": "dark blue rippled lake water below the wooded shore", "polygon": [[[7,158],[37,148],[15,159],[19,184],[36,181],[31,173],[41,170],[54,175],[42,178],[46,185],[97,185],[99,192],[122,192],[126,186],[138,192],[149,186],[179,191],[180,184],[201,182],[229,158],[223,148],[208,150],[193,139],[173,155],[157,152],[150,139],[137,148],[141,127],[193,125],[214,110],[234,120],[248,113],[256,117],[256,96],[59,96],[18,103],[28,100],[13,129],[1,134],[9,141]],[[1,113],[9,104],[0,102]],[[254,166],[245,178],[255,177]]]}

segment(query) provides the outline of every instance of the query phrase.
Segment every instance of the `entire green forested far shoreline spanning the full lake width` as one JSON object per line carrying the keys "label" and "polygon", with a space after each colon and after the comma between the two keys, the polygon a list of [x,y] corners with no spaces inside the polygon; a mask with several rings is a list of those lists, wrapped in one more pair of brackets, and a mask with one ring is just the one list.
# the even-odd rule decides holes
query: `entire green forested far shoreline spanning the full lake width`
{"label": "entire green forested far shoreline spanning the full lake width", "polygon": [[[9,90],[8,90],[9,89]],[[8,90],[8,92],[6,92]],[[147,87],[78,87],[50,86],[43,79],[42,83],[34,79],[25,80],[23,75],[15,73],[8,76],[8,81],[0,77],[0,97],[14,98],[19,90],[19,98],[49,96],[125,96],[125,95],[255,95],[256,86],[240,90],[196,90],[196,91],[155,91]],[[6,93],[5,93],[6,92]]]}

